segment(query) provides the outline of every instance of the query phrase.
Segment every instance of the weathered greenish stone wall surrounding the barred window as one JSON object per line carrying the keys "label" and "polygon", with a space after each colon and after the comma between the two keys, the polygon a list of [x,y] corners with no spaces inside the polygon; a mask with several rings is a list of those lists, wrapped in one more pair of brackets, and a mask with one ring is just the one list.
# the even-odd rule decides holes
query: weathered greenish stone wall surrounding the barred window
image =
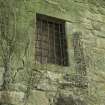
{"label": "weathered greenish stone wall surrounding the barred window", "polygon": [[[0,14],[10,18],[9,31],[4,30],[4,34],[0,29],[1,105],[53,105],[59,96],[71,97],[67,105],[105,105],[104,0],[10,0],[5,6],[10,9],[2,10],[1,6]],[[36,13],[65,20],[68,67],[35,64]],[[8,40],[14,35],[10,44]],[[75,35],[79,36],[78,54],[73,44]],[[9,71],[5,76],[3,57],[8,57],[8,43],[13,45],[13,52],[7,59]],[[2,89],[4,79],[9,83]],[[78,82],[83,87],[75,86]]]}

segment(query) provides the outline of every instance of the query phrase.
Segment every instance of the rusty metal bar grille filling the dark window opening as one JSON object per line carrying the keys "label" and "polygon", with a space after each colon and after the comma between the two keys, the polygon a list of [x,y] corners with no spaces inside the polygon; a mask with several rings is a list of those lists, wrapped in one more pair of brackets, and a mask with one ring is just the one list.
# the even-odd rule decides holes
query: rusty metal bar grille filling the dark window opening
{"label": "rusty metal bar grille filling the dark window opening", "polygon": [[68,66],[65,21],[37,14],[36,29],[36,61]]}

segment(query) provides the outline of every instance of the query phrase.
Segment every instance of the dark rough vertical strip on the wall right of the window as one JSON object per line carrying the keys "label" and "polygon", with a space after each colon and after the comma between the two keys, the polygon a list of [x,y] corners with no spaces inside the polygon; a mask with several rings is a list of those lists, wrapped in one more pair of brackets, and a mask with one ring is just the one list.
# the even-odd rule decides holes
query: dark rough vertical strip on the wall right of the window
{"label": "dark rough vertical strip on the wall right of the window", "polygon": [[76,70],[82,76],[87,75],[86,71],[86,61],[83,49],[83,42],[81,41],[82,33],[73,33],[73,46],[74,46],[74,57],[76,62]]}

